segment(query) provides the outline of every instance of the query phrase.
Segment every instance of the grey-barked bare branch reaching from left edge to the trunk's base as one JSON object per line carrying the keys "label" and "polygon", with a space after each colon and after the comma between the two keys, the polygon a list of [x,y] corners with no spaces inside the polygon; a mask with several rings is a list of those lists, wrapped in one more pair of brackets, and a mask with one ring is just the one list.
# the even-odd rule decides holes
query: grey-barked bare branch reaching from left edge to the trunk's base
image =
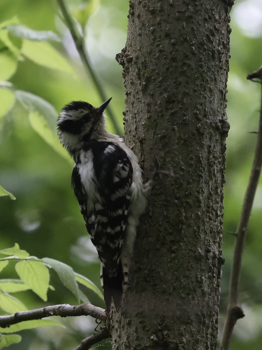
{"label": "grey-barked bare branch reaching from left edge to the trunk's base", "polygon": [[40,320],[49,316],[92,316],[105,321],[105,310],[92,304],[80,304],[71,306],[69,304],[59,304],[46,306],[41,309],[21,311],[14,315],[0,316],[0,327],[9,327],[11,324],[22,321]]}

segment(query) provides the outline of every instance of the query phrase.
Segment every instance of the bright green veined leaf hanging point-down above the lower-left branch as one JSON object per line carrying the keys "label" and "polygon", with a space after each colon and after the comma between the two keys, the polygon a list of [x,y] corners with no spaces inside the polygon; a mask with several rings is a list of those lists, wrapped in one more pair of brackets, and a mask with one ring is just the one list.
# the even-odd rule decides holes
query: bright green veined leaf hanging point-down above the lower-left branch
{"label": "bright green veined leaf hanging point-down above the lower-left branch", "polygon": [[17,262],[15,271],[21,280],[41,299],[47,300],[49,288],[49,271],[41,261],[23,260]]}

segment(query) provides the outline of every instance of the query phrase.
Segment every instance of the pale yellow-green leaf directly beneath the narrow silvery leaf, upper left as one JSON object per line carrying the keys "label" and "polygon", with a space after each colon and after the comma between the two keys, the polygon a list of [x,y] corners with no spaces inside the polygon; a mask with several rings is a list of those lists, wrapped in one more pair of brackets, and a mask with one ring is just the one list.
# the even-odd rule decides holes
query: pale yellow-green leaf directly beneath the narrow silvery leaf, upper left
{"label": "pale yellow-green leaf directly beneath the narrow silvery leaf, upper left", "polygon": [[22,54],[36,64],[58,69],[75,77],[71,66],[48,42],[23,40]]}

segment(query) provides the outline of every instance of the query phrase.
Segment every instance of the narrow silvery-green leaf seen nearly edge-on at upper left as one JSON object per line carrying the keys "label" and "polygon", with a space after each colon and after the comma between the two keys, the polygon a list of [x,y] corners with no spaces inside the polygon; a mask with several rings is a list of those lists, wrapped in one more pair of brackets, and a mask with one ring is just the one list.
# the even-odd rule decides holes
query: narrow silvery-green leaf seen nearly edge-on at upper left
{"label": "narrow silvery-green leaf seen nearly edge-on at upper left", "polygon": [[7,29],[9,33],[21,39],[61,41],[59,36],[51,30],[33,30],[21,25],[10,25]]}

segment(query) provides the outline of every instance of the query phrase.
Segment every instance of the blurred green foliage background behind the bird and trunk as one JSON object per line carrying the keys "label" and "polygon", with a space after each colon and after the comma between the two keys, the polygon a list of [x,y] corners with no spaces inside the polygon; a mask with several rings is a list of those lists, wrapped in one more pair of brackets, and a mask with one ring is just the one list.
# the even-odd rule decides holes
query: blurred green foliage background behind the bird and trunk
{"label": "blurred green foliage background behind the bird and trunk", "polygon": [[[123,132],[124,87],[122,68],[115,55],[125,45],[128,3],[122,0],[69,1],[70,10],[86,35],[90,60],[106,94],[113,97],[110,105]],[[254,152],[260,109],[260,87],[246,80],[247,73],[262,64],[262,5],[255,0],[238,1],[232,10],[231,59],[228,79],[227,115],[231,129],[227,138],[224,236],[223,251],[226,264],[221,280],[220,323],[223,324],[228,280],[231,267],[234,236],[241,203],[247,186]],[[23,41],[13,37],[15,47],[22,47],[17,61],[15,49],[11,56],[0,55],[0,80],[7,80],[16,90],[40,96],[54,109],[50,116],[70,100],[86,100],[95,106],[101,101],[89,75],[83,69],[72,39],[59,17],[55,1],[50,0],[2,0],[0,23],[17,21],[35,30],[52,30],[62,42],[49,44],[59,55],[38,42]],[[1,25],[0,25],[1,26]],[[0,54],[6,37],[0,32]],[[16,57],[16,58],[15,58]],[[60,61],[60,59],[62,59]],[[53,144],[45,119],[39,117],[34,102],[28,105],[27,94],[0,89],[0,184],[10,191],[16,200],[0,198],[0,249],[14,246],[27,250],[38,258],[57,259],[87,276],[97,286],[99,263],[96,252],[86,235],[77,200],[70,187],[72,161],[61,154]],[[22,103],[21,103],[22,102]],[[51,108],[51,107],[50,107]],[[53,128],[55,118],[47,125]],[[115,132],[110,120],[108,128]],[[49,143],[48,143],[49,142]],[[51,144],[50,144],[51,142]],[[255,197],[243,255],[241,277],[241,303],[246,317],[239,320],[231,346],[232,350],[261,349],[262,342],[262,184]],[[6,267],[1,278],[18,278],[12,264]],[[51,273],[54,290],[48,292],[48,303],[33,292],[18,292],[16,296],[28,308],[46,304],[70,303],[77,300]],[[90,302],[104,307],[103,301],[84,290]],[[9,349],[71,350],[83,337],[92,334],[96,327],[90,317],[72,317],[59,320],[66,329],[42,327],[24,330],[22,342]],[[220,335],[221,336],[221,335]],[[104,341],[101,349],[109,349]]]}

